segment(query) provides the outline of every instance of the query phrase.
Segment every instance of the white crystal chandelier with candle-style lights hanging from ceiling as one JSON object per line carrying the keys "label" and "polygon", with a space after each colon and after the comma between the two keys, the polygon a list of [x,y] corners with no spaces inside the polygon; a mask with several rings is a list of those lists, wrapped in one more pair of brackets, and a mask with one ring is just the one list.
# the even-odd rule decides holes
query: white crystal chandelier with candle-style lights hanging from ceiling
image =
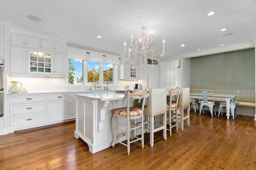
{"label": "white crystal chandelier with candle-style lights hanging from ceiling", "polygon": [[[147,27],[141,27],[141,35],[140,39],[136,40],[135,43],[133,43],[133,40],[131,39],[130,46],[132,49],[129,49],[128,57],[126,56],[126,60],[128,63],[132,65],[132,67],[137,67],[137,63],[140,64],[140,66],[146,67],[147,62],[147,54],[150,56],[150,64],[152,65],[159,65],[160,62],[164,59],[164,41],[163,41],[163,53],[160,55],[159,59],[155,58],[156,55],[156,49],[154,47],[149,48],[149,44],[153,41],[153,33],[150,33],[149,31],[145,31]],[[132,36],[133,38],[133,36]],[[126,53],[126,43],[124,43],[124,53]],[[132,56],[130,56],[132,55]]]}

